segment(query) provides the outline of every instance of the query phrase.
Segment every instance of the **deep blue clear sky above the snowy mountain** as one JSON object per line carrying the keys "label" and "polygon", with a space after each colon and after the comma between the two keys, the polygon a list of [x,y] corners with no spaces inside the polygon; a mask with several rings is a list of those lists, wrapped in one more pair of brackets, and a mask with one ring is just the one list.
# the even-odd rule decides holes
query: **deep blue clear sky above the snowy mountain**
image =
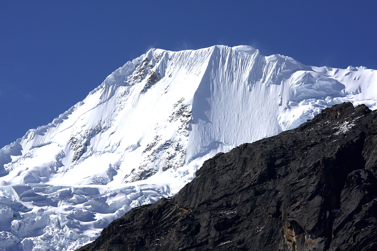
{"label": "deep blue clear sky above the snowy mountain", "polygon": [[307,65],[377,69],[377,1],[180,2],[0,0],[0,148],[151,47],[245,44]]}

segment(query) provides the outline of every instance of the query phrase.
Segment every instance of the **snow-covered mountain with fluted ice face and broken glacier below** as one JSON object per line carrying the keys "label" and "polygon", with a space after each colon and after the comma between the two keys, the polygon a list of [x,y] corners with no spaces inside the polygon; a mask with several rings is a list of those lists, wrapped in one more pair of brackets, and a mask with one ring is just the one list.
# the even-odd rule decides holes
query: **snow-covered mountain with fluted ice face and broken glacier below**
{"label": "snow-covered mountain with fluted ice face and broken glacier below", "polygon": [[178,192],[218,152],[333,104],[375,109],[376,81],[365,67],[305,66],[250,46],[151,49],[0,150],[0,247],[75,249],[130,208]]}

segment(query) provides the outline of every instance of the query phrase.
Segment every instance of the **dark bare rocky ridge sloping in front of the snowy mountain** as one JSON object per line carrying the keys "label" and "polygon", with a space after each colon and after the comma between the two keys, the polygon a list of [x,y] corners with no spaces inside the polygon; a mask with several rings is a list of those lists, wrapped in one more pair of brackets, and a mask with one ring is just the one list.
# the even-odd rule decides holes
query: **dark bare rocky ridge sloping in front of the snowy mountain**
{"label": "dark bare rocky ridge sloping in front of the snowy mountain", "polygon": [[343,103],[206,161],[78,250],[377,250],[377,111]]}

